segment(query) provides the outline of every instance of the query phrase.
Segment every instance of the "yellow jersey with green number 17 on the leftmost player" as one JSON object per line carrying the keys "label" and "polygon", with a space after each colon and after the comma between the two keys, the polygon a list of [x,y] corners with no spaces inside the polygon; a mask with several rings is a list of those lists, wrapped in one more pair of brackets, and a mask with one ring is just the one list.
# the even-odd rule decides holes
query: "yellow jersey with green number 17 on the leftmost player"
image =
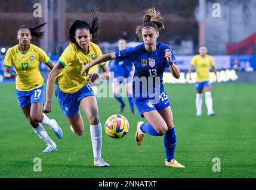
{"label": "yellow jersey with green number 17 on the leftmost player", "polygon": [[44,84],[44,78],[39,71],[39,62],[44,64],[50,62],[47,53],[38,46],[30,44],[27,52],[21,52],[18,45],[8,49],[4,59],[4,66],[14,69],[17,73],[16,89],[20,91],[30,91],[41,87]]}

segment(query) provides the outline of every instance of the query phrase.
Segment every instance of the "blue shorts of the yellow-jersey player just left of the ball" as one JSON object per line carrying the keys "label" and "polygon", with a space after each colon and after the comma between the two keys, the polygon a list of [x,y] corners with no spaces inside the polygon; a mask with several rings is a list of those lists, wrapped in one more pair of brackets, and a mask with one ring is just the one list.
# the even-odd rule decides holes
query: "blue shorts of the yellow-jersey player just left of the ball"
{"label": "blue shorts of the yellow-jersey player just left of the ball", "polygon": [[67,116],[67,118],[72,118],[78,112],[80,101],[84,97],[95,96],[91,88],[91,83],[88,83],[73,94],[64,93],[57,85],[56,93],[58,97],[58,102],[60,103],[60,107],[64,115]]}

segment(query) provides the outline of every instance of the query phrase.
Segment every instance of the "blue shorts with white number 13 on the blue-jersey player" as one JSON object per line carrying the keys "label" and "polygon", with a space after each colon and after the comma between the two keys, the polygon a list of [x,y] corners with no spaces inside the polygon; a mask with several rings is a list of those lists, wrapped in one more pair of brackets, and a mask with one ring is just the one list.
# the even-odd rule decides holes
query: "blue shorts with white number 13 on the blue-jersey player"
{"label": "blue shorts with white number 13 on the blue-jersey player", "polygon": [[168,95],[165,91],[161,92],[158,103],[154,103],[155,100],[152,99],[140,99],[138,97],[134,97],[133,99],[141,118],[144,118],[144,112],[150,112],[152,110],[160,111],[165,109],[165,107],[171,106]]}

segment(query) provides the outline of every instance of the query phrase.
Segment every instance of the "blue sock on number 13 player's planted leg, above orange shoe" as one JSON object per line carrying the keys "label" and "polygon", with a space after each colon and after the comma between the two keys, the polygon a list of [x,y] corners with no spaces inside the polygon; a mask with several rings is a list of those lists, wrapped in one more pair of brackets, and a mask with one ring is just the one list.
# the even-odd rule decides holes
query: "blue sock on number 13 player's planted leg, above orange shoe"
{"label": "blue sock on number 13 player's planted leg, above orange shoe", "polygon": [[166,152],[166,160],[169,162],[174,159],[174,152],[176,147],[176,135],[174,128],[168,129],[164,137],[164,145]]}

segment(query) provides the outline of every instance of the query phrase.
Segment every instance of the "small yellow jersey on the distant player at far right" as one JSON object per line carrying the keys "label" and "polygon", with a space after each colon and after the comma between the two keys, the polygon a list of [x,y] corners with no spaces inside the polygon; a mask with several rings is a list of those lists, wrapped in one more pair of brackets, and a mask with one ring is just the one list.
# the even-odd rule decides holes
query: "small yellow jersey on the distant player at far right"
{"label": "small yellow jersey on the distant player at far right", "polygon": [[214,60],[209,55],[206,55],[205,58],[202,58],[201,55],[195,55],[190,64],[196,67],[196,82],[208,81],[210,78],[209,66],[215,65]]}

